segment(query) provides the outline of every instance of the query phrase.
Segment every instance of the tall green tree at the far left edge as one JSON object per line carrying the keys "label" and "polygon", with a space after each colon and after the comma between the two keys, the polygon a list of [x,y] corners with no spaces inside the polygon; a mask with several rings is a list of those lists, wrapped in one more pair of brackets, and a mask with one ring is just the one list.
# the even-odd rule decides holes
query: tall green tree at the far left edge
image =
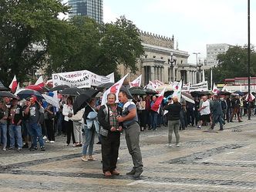
{"label": "tall green tree at the far left edge", "polygon": [[[49,39],[66,30],[59,12],[68,6],[60,0],[2,0],[0,2],[0,76],[6,84],[14,75],[31,79],[45,63]],[[42,49],[33,49],[38,45]]]}

